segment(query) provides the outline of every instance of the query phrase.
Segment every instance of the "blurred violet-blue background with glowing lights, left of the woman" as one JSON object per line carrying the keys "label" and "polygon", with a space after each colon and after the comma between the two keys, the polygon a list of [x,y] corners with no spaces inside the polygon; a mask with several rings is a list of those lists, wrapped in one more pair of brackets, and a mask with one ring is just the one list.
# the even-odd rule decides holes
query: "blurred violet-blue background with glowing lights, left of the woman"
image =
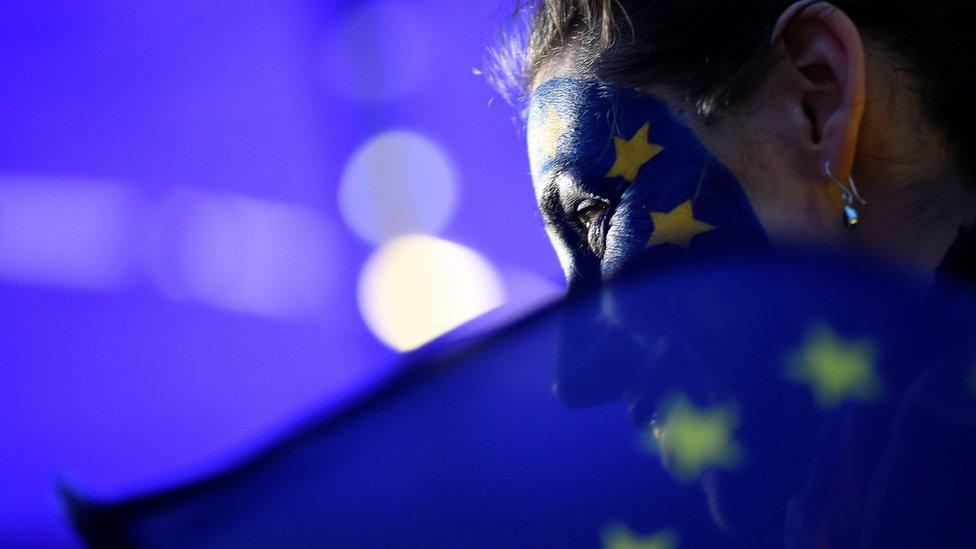
{"label": "blurred violet-blue background with glowing lights, left of the woman", "polygon": [[562,276],[499,0],[0,14],[0,545],[196,478]]}

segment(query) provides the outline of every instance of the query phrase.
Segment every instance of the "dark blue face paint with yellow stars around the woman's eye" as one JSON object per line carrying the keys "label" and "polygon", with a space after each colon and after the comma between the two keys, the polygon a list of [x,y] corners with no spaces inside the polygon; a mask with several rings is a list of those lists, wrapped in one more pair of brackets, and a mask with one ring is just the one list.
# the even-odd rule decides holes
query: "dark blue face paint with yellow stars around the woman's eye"
{"label": "dark blue face paint with yellow stars around the woman's eye", "polygon": [[606,278],[638,257],[766,243],[732,174],[649,93],[552,78],[532,96],[528,138],[536,199],[570,279],[587,263]]}

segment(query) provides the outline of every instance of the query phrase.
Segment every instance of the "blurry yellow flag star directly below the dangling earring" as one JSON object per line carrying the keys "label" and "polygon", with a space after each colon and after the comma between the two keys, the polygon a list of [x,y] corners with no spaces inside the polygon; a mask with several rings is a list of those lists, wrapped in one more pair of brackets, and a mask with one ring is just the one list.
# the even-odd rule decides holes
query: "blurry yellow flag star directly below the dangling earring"
{"label": "blurry yellow flag star directly below the dangling earring", "polygon": [[813,390],[823,408],[846,400],[870,401],[882,390],[875,372],[875,346],[868,340],[844,340],[826,324],[814,326],[789,360],[787,375]]}

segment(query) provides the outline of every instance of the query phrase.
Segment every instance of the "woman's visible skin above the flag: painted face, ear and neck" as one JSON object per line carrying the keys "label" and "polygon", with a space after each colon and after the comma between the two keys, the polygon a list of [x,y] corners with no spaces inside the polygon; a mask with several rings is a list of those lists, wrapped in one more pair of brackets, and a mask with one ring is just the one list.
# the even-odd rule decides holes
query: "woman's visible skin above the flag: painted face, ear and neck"
{"label": "woman's visible skin above the flag: painted face, ear and neck", "polygon": [[[708,124],[684,94],[601,86],[566,68],[573,59],[536,75],[533,183],[571,284],[639,256],[755,242],[757,232],[935,271],[976,198],[954,179],[944,139],[895,58],[865,49],[840,10],[804,6],[777,24],[763,78]],[[837,184],[851,174],[866,201],[855,230],[845,228]]]}

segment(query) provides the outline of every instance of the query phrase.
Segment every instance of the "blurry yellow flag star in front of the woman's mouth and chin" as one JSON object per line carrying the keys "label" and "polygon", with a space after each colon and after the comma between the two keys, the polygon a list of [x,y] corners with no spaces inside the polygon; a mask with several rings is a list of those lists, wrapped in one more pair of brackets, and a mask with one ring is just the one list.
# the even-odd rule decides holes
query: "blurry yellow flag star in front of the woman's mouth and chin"
{"label": "blurry yellow flag star in front of the woman's mouth and chin", "polygon": [[742,449],[732,433],[739,425],[732,405],[698,408],[685,397],[673,399],[651,434],[664,464],[681,480],[694,480],[709,467],[738,465]]}

